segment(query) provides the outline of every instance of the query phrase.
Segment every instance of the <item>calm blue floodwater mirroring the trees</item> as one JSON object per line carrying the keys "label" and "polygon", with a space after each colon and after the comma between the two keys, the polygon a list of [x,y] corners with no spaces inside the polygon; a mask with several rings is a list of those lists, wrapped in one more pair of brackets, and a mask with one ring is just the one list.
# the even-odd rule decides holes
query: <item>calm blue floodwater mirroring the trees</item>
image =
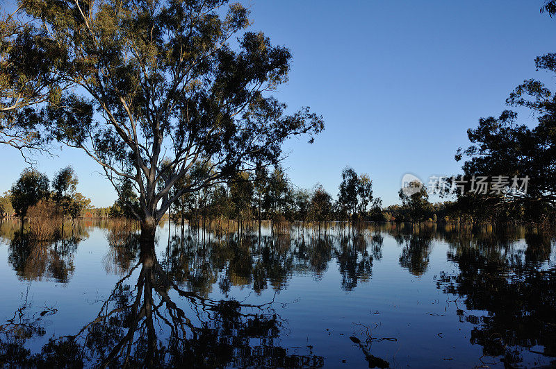
{"label": "calm blue floodwater mirroring the trees", "polygon": [[[533,230],[259,234],[0,225],[0,366],[550,367],[556,252]],[[280,234],[277,234],[280,233]]]}

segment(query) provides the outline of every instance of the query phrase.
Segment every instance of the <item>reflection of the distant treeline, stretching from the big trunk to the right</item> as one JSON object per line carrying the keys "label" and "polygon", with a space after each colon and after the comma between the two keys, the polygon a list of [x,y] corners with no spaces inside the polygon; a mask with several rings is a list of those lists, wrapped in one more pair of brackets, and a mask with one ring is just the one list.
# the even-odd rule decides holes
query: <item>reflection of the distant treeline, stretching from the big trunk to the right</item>
{"label": "reflection of the distant treeline, stretching from the big trunk to the right", "polygon": [[[420,226],[360,223],[353,230],[346,229],[343,223],[330,223],[320,229],[291,225],[288,232],[267,230],[262,234],[249,227],[241,233],[222,232],[217,227],[211,232],[197,228],[181,232],[181,227],[177,228],[174,233],[165,235],[161,232],[158,236],[161,243],[166,243],[167,237],[163,263],[182,286],[202,295],[211,293],[215,286],[223,293],[232,286],[250,286],[257,293],[269,288],[283,289],[292,273],[312,273],[320,278],[334,265],[331,261],[337,264],[342,275],[341,287],[349,291],[372,277],[373,261],[382,259],[385,235],[393,237],[402,246],[399,264],[416,276],[423,275],[429,268],[433,241],[490,245],[536,237],[525,228],[471,229],[439,227],[435,223]],[[117,237],[117,232],[110,228],[108,232],[111,250],[105,257],[106,270],[125,273],[138,257],[138,235],[135,230],[126,231],[130,234],[129,240],[117,246],[117,242],[111,239],[125,239],[125,232],[118,228]],[[122,246],[124,244],[127,246]],[[525,252],[528,260],[539,257],[538,250],[528,250]]]}

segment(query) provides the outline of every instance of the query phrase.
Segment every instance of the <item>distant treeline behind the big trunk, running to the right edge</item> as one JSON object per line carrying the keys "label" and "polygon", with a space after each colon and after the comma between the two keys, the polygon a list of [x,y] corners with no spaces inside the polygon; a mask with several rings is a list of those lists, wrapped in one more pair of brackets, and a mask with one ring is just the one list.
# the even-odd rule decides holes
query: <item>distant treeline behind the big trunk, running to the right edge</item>
{"label": "distant treeline behind the big trunk, running to the right edge", "polygon": [[[197,172],[202,170],[198,169]],[[174,191],[195,182],[195,178],[186,176],[183,182],[178,183]],[[553,214],[550,208],[542,217],[534,218],[525,203],[504,200],[504,195],[499,196],[502,200],[498,204],[487,207],[480,203],[482,198],[478,195],[450,191],[448,187],[439,191],[443,196],[454,196],[455,200],[430,203],[427,188],[421,186],[414,194],[406,194],[400,189],[401,205],[383,207],[382,200],[373,196],[370,176],[367,173],[358,174],[349,166],[341,173],[336,198],[320,184],[316,184],[313,189],[296,187],[284,170],[277,166],[271,170],[261,168],[254,173],[239,173],[229,182],[216,183],[183,194],[172,203],[170,218],[176,223],[188,221],[199,228],[205,228],[206,224],[214,221],[222,223],[226,220],[246,224],[252,221],[260,224],[268,220],[272,224],[284,221],[318,224],[343,221],[350,225],[372,221],[546,225],[547,219],[551,219]],[[172,193],[168,196],[171,197]],[[131,184],[122,186],[120,196],[113,207],[108,209],[108,214],[132,218],[133,212],[129,209],[140,212],[138,198]]]}

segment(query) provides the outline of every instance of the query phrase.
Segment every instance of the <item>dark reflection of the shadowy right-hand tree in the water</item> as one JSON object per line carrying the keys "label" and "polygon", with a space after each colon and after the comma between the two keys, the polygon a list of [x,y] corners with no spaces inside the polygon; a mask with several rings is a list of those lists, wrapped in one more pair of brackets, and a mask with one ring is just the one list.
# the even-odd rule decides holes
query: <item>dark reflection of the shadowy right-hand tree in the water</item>
{"label": "dark reflection of the shadowy right-hand tree in the water", "polygon": [[471,343],[507,367],[554,364],[548,359],[556,357],[552,239],[526,229],[450,235],[448,259],[459,272],[442,273],[438,286],[464,304],[458,315],[475,325]]}

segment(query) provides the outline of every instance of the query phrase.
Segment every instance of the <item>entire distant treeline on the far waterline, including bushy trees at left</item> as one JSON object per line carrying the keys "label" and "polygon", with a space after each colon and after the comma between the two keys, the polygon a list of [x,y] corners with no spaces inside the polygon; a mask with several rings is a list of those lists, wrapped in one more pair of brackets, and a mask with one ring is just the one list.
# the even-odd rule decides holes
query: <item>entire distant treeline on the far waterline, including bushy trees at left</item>
{"label": "entire distant treeline on the far waterline, including bushy trees at left", "polygon": [[[176,184],[174,191],[194,180],[186,176]],[[60,169],[51,182],[46,175],[25,169],[12,189],[0,197],[0,216],[17,216],[23,223],[28,215],[54,214],[60,216],[61,221],[66,218],[74,221],[76,218],[133,218],[133,212],[141,211],[131,183],[120,187],[119,196],[111,207],[99,208],[90,206],[90,199],[76,191],[77,184],[71,167]],[[442,190],[443,194],[450,194],[448,189]],[[341,173],[336,198],[320,184],[313,189],[296,187],[284,170],[276,166],[271,170],[260,168],[254,173],[238,173],[228,182],[177,196],[168,216],[176,223],[183,225],[187,221],[197,228],[230,220],[240,225],[270,221],[272,229],[275,223],[282,222],[325,224],[332,221],[343,221],[348,226],[366,221],[553,224],[554,210],[547,205],[540,212],[539,209],[532,212],[526,201],[509,201],[503,194],[498,201],[495,196],[466,194],[463,189],[454,196],[454,201],[430,203],[424,186],[413,194],[400,189],[401,205],[383,207],[382,200],[373,196],[370,176],[358,174],[349,166]]]}

